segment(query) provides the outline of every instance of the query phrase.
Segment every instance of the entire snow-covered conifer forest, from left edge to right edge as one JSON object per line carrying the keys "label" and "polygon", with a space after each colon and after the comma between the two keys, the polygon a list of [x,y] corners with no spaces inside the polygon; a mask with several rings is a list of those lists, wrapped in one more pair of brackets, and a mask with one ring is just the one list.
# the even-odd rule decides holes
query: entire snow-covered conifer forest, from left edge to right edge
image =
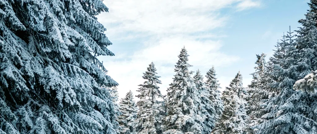
{"label": "entire snow-covered conifer forest, from left edge to right edge", "polygon": [[268,61],[255,55],[247,88],[239,71],[221,92],[184,46],[167,89],[151,62],[119,98],[97,58],[114,56],[102,0],[0,0],[0,134],[317,134],[317,1],[307,7]]}

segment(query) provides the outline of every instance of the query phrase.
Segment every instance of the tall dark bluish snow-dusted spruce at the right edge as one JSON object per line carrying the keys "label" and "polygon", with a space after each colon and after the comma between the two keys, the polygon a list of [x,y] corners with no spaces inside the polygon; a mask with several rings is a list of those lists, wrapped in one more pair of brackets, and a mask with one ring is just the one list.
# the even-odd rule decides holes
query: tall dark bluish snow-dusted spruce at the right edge
{"label": "tall dark bluish snow-dusted spruce at the right edge", "polygon": [[[275,104],[277,107],[271,108],[273,112],[268,113],[270,117],[267,118],[270,120],[265,124],[259,125],[259,133],[317,133],[315,123],[317,120],[315,116],[317,114],[315,111],[317,108],[317,96],[316,94],[310,94],[312,91],[314,92],[315,87],[302,88],[297,91],[292,90],[293,87],[297,89],[302,87],[302,80],[299,81],[300,84],[296,83],[293,85],[296,80],[305,77],[311,70],[317,69],[316,14],[314,13],[315,11],[311,11],[308,10],[305,19],[299,20],[303,27],[296,31],[298,36],[295,45],[290,43],[291,36],[288,35],[288,48],[291,48],[291,51],[288,51],[286,55],[288,64],[285,66],[285,61],[281,62],[281,64],[284,64],[285,69],[277,68],[277,71],[274,72],[274,75],[282,79],[278,83],[281,86],[277,87],[281,90],[281,93],[266,103]],[[293,50],[295,47],[296,50]]]}

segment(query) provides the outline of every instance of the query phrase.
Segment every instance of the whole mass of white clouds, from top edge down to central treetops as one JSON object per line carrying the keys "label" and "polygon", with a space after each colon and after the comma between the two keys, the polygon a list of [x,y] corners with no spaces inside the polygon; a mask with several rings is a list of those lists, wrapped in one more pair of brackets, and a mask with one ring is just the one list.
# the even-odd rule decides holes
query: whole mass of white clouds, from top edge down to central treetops
{"label": "whole mass of white clouds, from top edge down to central treetops", "polygon": [[[160,87],[165,94],[183,46],[190,55],[189,63],[194,65],[191,69],[199,68],[203,73],[212,65],[228,66],[239,60],[237,56],[221,52],[220,38],[225,37],[225,33],[211,31],[226,26],[230,19],[221,15],[221,9],[258,7],[250,0],[106,0],[104,3],[109,13],[97,17],[107,28],[110,40],[146,38],[139,41],[142,47],[133,54],[120,51],[114,57],[100,57],[108,74],[120,84],[120,97],[128,90],[137,95],[137,85],[143,83],[142,73],[151,61],[162,76]],[[221,84],[230,81],[222,79]]]}

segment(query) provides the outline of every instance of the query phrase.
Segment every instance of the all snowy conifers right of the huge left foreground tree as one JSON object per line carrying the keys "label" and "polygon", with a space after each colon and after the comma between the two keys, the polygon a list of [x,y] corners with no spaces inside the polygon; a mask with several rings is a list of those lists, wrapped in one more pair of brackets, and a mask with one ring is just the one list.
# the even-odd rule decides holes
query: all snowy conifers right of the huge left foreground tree
{"label": "all snowy conifers right of the huge left foreground tree", "polygon": [[[188,70],[191,65],[183,48],[175,65],[173,82],[167,95],[162,96],[152,62],[149,68],[154,69],[148,68],[143,76],[147,86],[139,85],[137,90],[140,101],[133,107],[140,110],[134,111],[131,129],[125,134],[317,133],[317,75],[312,71],[317,70],[317,1],[311,0],[308,5],[311,9],[307,10],[305,19],[298,21],[302,27],[295,31],[297,35],[289,26],[268,62],[266,54],[256,55],[253,80],[247,88],[243,87],[242,75],[238,72],[220,96],[214,68],[207,73],[212,77],[206,76],[212,78],[213,84],[208,80],[204,82],[199,70],[191,77],[193,72]],[[151,75],[152,78],[148,74],[155,75]],[[151,97],[153,89],[163,101],[153,102],[159,98]],[[129,100],[133,102],[133,96]],[[142,112],[155,111],[153,106],[156,112]],[[155,123],[151,122],[154,119]]]}

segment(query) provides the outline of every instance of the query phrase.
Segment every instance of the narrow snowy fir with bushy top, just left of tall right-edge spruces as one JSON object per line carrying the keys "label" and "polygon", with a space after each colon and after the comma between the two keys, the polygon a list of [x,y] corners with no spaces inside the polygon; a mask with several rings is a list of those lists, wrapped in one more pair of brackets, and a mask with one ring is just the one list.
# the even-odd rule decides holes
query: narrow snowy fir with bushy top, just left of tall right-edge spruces
{"label": "narrow snowy fir with bushy top, just left of tall right-edge spruces", "polygon": [[248,106],[247,106],[247,114],[249,116],[247,128],[247,133],[254,133],[250,127],[258,125],[263,122],[261,116],[263,115],[262,109],[260,105],[262,104],[262,100],[266,99],[268,96],[266,92],[268,91],[268,75],[266,69],[266,54],[262,53],[261,55],[256,55],[257,60],[255,62],[256,67],[254,67],[255,72],[251,73],[253,80],[249,87],[249,96],[248,96]]}

